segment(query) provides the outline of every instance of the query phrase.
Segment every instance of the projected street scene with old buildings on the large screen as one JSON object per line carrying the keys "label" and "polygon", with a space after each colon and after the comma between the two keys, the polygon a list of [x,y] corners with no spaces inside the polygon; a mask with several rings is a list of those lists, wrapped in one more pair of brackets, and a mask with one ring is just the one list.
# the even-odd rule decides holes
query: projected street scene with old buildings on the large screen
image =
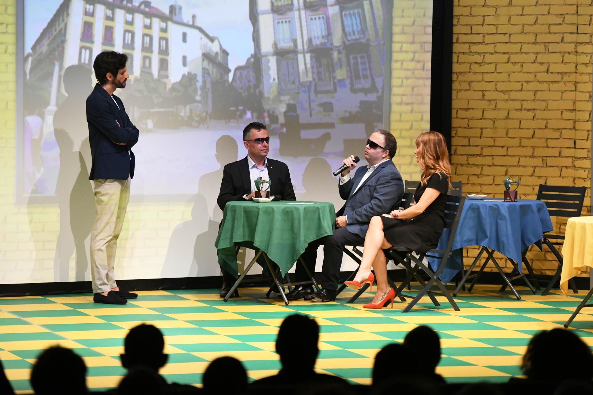
{"label": "projected street scene with old buildings on the large screen", "polygon": [[241,157],[254,121],[302,192],[314,158],[362,157],[384,128],[386,10],[382,0],[26,1],[20,195],[56,196],[65,179],[88,177],[84,100],[104,50],[128,56],[116,94],[141,130],[133,195],[195,195],[221,167],[216,141],[231,136]]}

